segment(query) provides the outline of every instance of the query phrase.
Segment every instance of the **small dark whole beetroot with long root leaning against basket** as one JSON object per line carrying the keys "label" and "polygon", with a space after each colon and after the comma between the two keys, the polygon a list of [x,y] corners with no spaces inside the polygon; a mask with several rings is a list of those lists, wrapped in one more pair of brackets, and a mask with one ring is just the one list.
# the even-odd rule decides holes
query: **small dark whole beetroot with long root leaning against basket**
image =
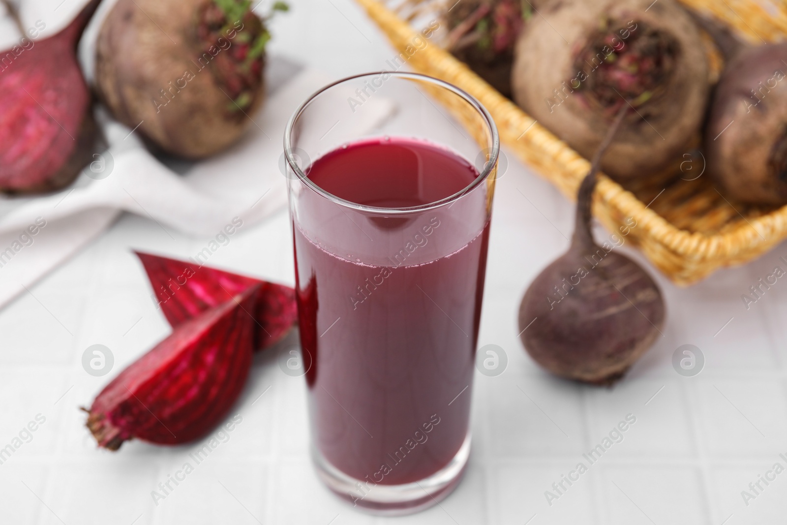
{"label": "small dark whole beetroot with long root leaning against basket", "polygon": [[530,357],[555,375],[599,385],[623,377],[660,334],[665,316],[653,279],[608,242],[597,245],[590,231],[600,157],[625,113],[619,110],[579,187],[571,246],[534,279],[519,306]]}

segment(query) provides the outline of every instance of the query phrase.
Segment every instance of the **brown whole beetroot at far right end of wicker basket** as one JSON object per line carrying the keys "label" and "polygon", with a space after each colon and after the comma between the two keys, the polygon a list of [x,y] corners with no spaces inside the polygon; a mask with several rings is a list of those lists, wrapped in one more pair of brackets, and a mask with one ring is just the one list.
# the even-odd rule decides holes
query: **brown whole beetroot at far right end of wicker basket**
{"label": "brown whole beetroot at far right end of wicker basket", "polygon": [[705,132],[708,172],[737,201],[787,204],[787,43],[740,50]]}

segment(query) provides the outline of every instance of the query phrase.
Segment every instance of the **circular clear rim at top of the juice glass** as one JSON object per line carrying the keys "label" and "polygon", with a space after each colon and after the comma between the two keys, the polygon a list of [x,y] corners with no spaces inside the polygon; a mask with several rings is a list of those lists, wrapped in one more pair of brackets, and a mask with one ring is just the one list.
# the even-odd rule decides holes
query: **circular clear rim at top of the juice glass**
{"label": "circular clear rim at top of the juice glass", "polygon": [[[447,89],[448,91],[453,92],[460,98],[464,99],[464,102],[471,105],[478,113],[481,114],[482,118],[486,120],[486,125],[490,130],[490,134],[492,135],[492,146],[491,146],[491,154],[488,161],[484,165],[484,168],[481,172],[479,172],[478,177],[473,179],[473,181],[467,185],[467,187],[462,188],[461,190],[457,191],[455,194],[449,195],[448,197],[442,198],[438,201],[429,202],[427,204],[418,205],[418,206],[408,206],[403,208],[381,208],[379,206],[368,206],[368,205],[361,205],[357,202],[348,201],[346,199],[337,197],[334,194],[323,190],[323,188],[317,186],[315,183],[309,179],[308,176],[301,170],[301,168],[297,165],[297,161],[294,155],[294,149],[292,147],[292,141],[290,139],[292,135],[293,128],[295,126],[298,117],[305,111],[305,109],[311,104],[320,94],[323,94],[325,91],[331,89],[331,87],[337,86],[338,84],[345,83],[349,80],[353,79],[360,79],[364,76],[379,76],[383,74],[388,74],[392,76],[398,76],[403,79],[414,79],[414,80],[423,80],[428,83],[432,83],[437,85],[438,87],[442,87]],[[316,191],[317,194],[323,196],[323,198],[327,198],[330,201],[334,201],[338,205],[345,206],[347,208],[356,209],[358,211],[363,212],[371,212],[371,213],[379,213],[383,215],[396,215],[396,214],[403,214],[403,213],[413,213],[413,212],[421,212],[428,209],[434,209],[441,207],[443,205],[453,203],[454,201],[459,200],[464,194],[467,194],[478,187],[486,178],[490,175],[492,168],[497,165],[497,159],[500,156],[500,137],[497,133],[497,125],[494,123],[492,116],[486,110],[486,108],[478,102],[471,94],[467,93],[460,89],[459,87],[454,86],[451,83],[445,82],[441,79],[436,79],[433,76],[422,75],[421,73],[412,73],[412,72],[392,72],[392,71],[377,71],[377,72],[368,72],[368,73],[360,73],[358,75],[347,76],[343,79],[336,80],[335,82],[329,83],[326,86],[321,87],[319,90],[315,91],[309,98],[301,103],[295,110],[295,112],[290,116],[290,120],[287,121],[286,127],[284,128],[284,156],[286,158],[287,165],[295,172],[295,175],[298,179],[301,180],[307,187],[311,188],[312,190]]]}

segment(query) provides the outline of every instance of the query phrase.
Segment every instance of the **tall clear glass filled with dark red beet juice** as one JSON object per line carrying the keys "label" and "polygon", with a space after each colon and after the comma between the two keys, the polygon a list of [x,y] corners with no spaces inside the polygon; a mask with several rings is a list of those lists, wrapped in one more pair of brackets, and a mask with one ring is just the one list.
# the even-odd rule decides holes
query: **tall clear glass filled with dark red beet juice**
{"label": "tall clear glass filled with dark red beet juice", "polygon": [[371,512],[427,508],[470,453],[497,128],[449,83],[369,73],[304,102],[284,150],[317,472]]}

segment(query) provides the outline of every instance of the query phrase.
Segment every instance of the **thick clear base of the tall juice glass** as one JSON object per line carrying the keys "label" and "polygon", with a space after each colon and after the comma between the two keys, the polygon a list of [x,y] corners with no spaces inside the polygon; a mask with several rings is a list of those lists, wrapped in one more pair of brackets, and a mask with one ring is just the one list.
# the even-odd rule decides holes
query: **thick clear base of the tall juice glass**
{"label": "thick clear base of the tall juice glass", "polygon": [[379,516],[404,516],[437,505],[451,494],[459,485],[467,467],[470,442],[468,431],[459,451],[445,467],[427,478],[402,485],[372,485],[367,480],[350,477],[330,464],[313,445],[312,460],[317,475],[328,488],[354,507]]}

